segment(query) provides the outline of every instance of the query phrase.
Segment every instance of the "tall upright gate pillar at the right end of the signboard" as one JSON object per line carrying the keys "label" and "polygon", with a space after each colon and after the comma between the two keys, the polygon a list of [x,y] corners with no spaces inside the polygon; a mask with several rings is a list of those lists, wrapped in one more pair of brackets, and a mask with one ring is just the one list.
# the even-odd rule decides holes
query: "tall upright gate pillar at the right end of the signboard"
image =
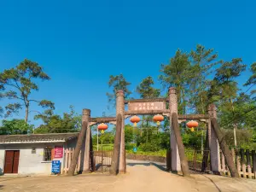
{"label": "tall upright gate pillar at the right end of the signboard", "polygon": [[177,113],[177,90],[174,87],[169,89],[169,109],[170,109],[170,127],[171,127],[171,158],[172,158],[172,172],[181,172],[181,165],[179,154],[177,150],[177,142],[174,134],[174,130],[172,127],[172,113]]}

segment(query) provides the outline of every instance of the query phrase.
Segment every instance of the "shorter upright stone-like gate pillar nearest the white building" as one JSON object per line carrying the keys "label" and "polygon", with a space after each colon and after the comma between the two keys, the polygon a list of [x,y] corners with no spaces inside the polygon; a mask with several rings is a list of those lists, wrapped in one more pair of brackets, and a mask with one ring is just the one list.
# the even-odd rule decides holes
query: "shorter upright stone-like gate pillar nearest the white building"
{"label": "shorter upright stone-like gate pillar nearest the white building", "polygon": [[[83,172],[90,172],[90,151],[92,151],[91,131],[90,131],[90,111],[84,110],[82,116],[82,124],[88,121],[86,133],[84,136],[84,169]],[[83,154],[83,153],[82,153]]]}

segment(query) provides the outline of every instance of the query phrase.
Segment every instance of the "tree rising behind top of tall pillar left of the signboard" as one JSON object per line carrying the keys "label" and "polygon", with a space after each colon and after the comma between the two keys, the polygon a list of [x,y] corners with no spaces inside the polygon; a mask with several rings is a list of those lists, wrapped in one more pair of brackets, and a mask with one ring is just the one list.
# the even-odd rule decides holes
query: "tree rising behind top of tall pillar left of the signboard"
{"label": "tree rising behind top of tall pillar left of the signboard", "polygon": [[112,89],[111,93],[107,93],[108,102],[113,102],[115,104],[115,94],[117,90],[124,90],[125,92],[125,99],[131,95],[131,91],[129,90],[128,86],[131,85],[128,81],[126,81],[123,74],[119,74],[116,76],[110,75],[108,86]]}

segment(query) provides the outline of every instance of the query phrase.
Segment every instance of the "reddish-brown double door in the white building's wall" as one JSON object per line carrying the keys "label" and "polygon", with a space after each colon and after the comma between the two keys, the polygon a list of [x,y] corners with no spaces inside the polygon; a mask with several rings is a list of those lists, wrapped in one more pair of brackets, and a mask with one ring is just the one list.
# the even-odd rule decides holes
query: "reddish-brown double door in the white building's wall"
{"label": "reddish-brown double door in the white building's wall", "polygon": [[20,151],[5,151],[4,173],[18,173]]}

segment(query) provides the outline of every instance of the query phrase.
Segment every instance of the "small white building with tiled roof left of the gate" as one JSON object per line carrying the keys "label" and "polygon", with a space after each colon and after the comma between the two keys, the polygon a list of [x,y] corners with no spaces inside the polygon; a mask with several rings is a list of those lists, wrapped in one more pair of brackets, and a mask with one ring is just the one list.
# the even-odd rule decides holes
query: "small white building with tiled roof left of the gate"
{"label": "small white building with tiled roof left of the gate", "polygon": [[0,136],[0,175],[51,174],[52,160],[65,164],[64,152],[74,148],[79,133]]}

